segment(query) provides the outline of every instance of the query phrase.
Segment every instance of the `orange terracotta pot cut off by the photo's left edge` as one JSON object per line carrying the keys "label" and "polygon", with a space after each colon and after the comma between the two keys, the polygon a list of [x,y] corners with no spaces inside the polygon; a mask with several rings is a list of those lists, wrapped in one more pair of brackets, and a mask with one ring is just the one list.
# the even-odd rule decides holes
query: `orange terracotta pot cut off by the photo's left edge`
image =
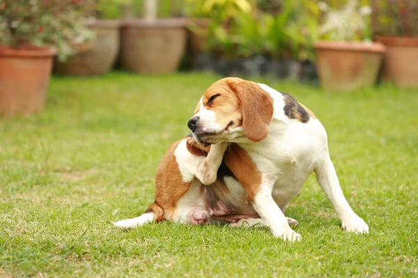
{"label": "orange terracotta pot cut off by the photo's left edge", "polygon": [[56,49],[0,46],[0,114],[29,115],[42,110]]}

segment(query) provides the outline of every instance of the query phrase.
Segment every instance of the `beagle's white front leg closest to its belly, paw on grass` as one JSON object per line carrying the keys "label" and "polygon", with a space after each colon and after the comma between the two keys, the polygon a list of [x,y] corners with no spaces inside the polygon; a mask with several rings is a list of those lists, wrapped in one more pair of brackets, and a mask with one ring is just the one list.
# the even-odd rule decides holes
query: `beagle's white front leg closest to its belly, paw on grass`
{"label": "beagle's white front leg closest to its belly, paw on grass", "polygon": [[283,211],[274,202],[272,188],[272,183],[263,182],[261,184],[260,190],[254,195],[254,209],[264,220],[265,224],[270,227],[274,237],[299,241],[302,237],[291,229]]}

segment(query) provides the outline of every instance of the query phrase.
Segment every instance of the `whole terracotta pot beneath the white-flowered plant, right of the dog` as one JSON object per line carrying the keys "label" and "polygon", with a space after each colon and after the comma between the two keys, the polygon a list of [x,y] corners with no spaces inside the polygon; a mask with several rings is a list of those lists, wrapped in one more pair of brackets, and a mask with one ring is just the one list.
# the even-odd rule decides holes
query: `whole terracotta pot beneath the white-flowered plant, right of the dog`
{"label": "whole terracotta pot beneath the white-flowered plant, right of the dog", "polygon": [[327,90],[356,90],[376,83],[385,46],[364,42],[316,42],[316,69]]}

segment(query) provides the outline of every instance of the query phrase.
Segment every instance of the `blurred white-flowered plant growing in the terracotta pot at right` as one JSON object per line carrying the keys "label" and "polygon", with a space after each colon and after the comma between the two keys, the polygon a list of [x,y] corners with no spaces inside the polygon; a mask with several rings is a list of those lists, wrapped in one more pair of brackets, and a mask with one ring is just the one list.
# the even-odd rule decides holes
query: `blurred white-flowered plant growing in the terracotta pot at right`
{"label": "blurred white-flowered plant growing in the terracotta pot at right", "polygon": [[348,0],[339,9],[331,8],[325,2],[318,3],[323,11],[320,38],[334,41],[371,40],[371,7],[362,6],[358,0]]}

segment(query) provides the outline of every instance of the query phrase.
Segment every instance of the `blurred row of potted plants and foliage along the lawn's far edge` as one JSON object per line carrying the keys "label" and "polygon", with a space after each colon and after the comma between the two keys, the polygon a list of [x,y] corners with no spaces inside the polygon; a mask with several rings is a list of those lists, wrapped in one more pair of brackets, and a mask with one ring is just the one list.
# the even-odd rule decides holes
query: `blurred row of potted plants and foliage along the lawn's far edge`
{"label": "blurred row of potted plants and foliage along the lawn's far edge", "polygon": [[[52,60],[57,75],[206,71],[417,88],[417,36],[418,0],[0,0],[0,109],[37,111]],[[33,107],[18,108],[22,99]]]}

